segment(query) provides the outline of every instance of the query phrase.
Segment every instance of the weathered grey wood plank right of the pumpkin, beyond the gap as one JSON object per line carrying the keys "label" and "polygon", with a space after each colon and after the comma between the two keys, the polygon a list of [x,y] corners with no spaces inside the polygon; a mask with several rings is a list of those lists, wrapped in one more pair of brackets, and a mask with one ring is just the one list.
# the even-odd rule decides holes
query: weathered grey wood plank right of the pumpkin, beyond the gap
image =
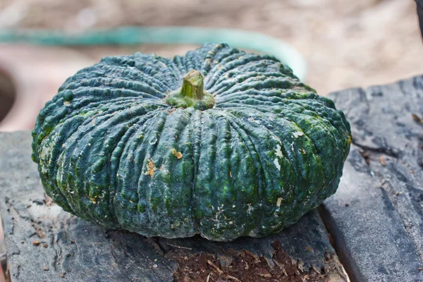
{"label": "weathered grey wood plank right of the pumpkin, beyond the gap", "polygon": [[330,97],[354,144],[324,202],[338,255],[355,281],[423,281],[423,77]]}

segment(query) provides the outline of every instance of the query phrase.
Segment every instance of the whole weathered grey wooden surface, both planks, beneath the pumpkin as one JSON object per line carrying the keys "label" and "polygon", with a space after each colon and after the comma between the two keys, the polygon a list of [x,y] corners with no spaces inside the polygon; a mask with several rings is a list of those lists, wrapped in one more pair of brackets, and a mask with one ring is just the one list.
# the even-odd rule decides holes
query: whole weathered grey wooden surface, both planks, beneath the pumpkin
{"label": "whole weathered grey wooden surface, both planks, beneath the pumpkin", "polygon": [[422,77],[331,94],[353,130],[336,195],[281,233],[233,243],[145,238],[71,216],[44,195],[30,133],[0,134],[12,281],[348,281],[338,256],[351,281],[423,281],[422,96]]}

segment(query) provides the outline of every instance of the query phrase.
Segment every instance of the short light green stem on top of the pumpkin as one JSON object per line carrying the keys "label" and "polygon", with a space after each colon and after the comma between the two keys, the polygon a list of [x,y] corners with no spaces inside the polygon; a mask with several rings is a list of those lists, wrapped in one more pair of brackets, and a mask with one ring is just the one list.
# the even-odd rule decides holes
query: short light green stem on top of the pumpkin
{"label": "short light green stem on top of the pumpkin", "polygon": [[166,97],[166,103],[180,108],[194,107],[198,110],[211,109],[214,106],[212,94],[204,91],[203,76],[200,71],[189,71],[184,77],[182,87]]}

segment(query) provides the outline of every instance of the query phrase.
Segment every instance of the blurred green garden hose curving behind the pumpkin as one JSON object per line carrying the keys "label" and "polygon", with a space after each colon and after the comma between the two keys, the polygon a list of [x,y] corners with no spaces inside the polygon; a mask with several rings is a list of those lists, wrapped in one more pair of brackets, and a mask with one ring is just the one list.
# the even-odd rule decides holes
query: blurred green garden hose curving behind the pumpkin
{"label": "blurred green garden hose curving behind the pumpkin", "polygon": [[198,44],[226,42],[240,49],[272,54],[304,80],[307,67],[303,57],[290,45],[259,32],[206,27],[119,27],[67,34],[54,30],[2,30],[0,43],[39,45],[128,45],[128,44]]}

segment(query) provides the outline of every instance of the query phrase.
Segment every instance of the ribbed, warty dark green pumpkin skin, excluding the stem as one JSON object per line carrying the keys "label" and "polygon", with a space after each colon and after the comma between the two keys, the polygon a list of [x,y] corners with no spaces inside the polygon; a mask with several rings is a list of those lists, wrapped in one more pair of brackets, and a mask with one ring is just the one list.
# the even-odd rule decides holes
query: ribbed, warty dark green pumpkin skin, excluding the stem
{"label": "ribbed, warty dark green pumpkin skin, excluding the stem", "polygon": [[[165,103],[192,69],[214,108]],[[290,68],[226,44],[173,59],[106,57],[66,80],[32,136],[44,188],[67,212],[221,241],[281,231],[321,204],[351,140],[343,113]]]}

